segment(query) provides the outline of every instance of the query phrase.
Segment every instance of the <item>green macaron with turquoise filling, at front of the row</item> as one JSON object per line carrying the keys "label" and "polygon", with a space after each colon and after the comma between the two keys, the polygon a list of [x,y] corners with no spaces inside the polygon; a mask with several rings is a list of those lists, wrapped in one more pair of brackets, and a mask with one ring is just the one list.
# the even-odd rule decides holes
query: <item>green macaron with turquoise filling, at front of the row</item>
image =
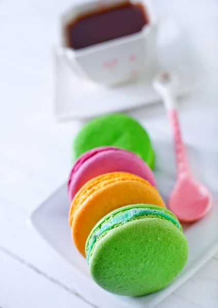
{"label": "green macaron with turquoise filling, at front of the row", "polygon": [[173,281],[187,262],[188,243],[168,209],[135,204],[112,211],[96,224],[86,241],[86,257],[99,286],[140,296]]}

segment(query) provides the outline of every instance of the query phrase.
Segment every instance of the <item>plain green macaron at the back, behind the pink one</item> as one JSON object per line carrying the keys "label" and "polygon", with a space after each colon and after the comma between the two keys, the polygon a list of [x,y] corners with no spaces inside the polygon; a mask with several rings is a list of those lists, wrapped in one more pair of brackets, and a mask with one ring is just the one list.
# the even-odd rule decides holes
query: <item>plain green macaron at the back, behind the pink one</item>
{"label": "plain green macaron at the back, behind the pink one", "polygon": [[110,114],[88,122],[73,143],[73,160],[83,153],[101,146],[114,146],[136,153],[151,169],[154,150],[146,130],[126,114]]}

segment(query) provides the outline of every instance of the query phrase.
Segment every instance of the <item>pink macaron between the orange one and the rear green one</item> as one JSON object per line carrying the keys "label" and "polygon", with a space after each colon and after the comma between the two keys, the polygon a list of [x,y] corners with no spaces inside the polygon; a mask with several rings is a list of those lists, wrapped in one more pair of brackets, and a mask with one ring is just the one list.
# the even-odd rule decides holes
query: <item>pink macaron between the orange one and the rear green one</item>
{"label": "pink macaron between the orange one and the rear green one", "polygon": [[69,200],[72,201],[90,179],[116,171],[132,173],[156,187],[153,171],[139,156],[128,150],[104,146],[85,152],[72,166],[68,180]]}

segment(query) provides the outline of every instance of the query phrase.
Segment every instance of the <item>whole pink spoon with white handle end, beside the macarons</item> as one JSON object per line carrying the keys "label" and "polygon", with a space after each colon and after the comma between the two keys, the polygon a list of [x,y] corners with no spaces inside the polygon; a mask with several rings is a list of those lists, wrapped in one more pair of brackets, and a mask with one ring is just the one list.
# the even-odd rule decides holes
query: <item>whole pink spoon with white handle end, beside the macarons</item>
{"label": "whole pink spoon with white handle end, beside the macarons", "polygon": [[176,111],[178,77],[161,73],[154,81],[154,88],[161,95],[171,122],[177,165],[177,181],[168,202],[168,208],[180,221],[193,222],[203,218],[211,208],[210,191],[191,175],[186,149],[181,138]]}

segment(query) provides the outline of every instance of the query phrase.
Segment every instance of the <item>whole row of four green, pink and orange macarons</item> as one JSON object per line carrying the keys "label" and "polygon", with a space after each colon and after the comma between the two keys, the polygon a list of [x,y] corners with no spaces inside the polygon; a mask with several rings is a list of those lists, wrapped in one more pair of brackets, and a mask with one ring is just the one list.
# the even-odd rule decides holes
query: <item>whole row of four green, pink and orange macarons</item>
{"label": "whole row of four green, pink and orange macarons", "polygon": [[93,279],[126,296],[167,286],[185,266],[188,244],[156,189],[146,130],[124,114],[100,117],[79,132],[74,157],[69,224]]}

